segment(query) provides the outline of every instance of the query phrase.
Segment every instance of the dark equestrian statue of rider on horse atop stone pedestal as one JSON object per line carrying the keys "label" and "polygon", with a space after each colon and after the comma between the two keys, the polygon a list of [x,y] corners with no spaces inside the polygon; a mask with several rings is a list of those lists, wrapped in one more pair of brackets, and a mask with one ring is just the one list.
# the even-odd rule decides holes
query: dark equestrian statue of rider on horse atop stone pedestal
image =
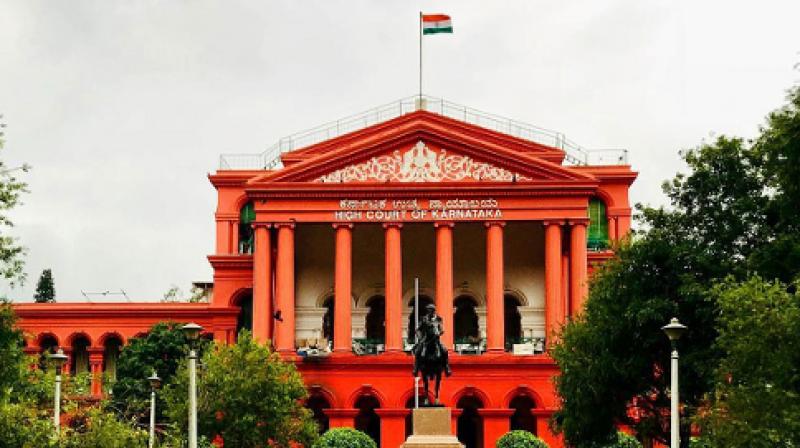
{"label": "dark equestrian statue of rider on horse atop stone pedestal", "polygon": [[439,340],[444,333],[442,328],[442,318],[436,315],[436,306],[430,304],[425,307],[425,315],[417,325],[416,342],[412,350],[414,354],[414,370],[412,375],[416,377],[422,374],[422,382],[425,386],[425,404],[431,405],[429,381],[436,380],[436,393],[434,404],[439,404],[439,387],[442,384],[442,372],[450,376],[450,363],[447,357],[447,348]]}

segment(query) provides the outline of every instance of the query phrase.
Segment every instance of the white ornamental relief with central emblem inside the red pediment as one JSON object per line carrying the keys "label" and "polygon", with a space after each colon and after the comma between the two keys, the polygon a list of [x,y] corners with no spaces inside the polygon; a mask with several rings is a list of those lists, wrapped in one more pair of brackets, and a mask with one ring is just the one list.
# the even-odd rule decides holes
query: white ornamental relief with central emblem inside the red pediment
{"label": "white ornamental relief with central emblem inside the red pediment", "polygon": [[469,156],[435,152],[422,141],[404,152],[376,156],[320,176],[315,182],[452,182],[461,180],[511,182],[530,180]]}

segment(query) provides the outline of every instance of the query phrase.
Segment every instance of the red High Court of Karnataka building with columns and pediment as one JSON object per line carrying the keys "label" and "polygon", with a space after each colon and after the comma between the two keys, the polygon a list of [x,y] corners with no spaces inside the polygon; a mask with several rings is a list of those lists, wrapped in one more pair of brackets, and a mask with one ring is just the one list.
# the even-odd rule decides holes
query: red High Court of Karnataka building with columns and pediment
{"label": "red High Court of Karnataka building with columns and pediment", "polygon": [[548,349],[629,232],[624,151],[426,97],[224,155],[208,178],[208,303],[19,304],[26,350],[62,347],[101,395],[121,348],[156,322],[197,322],[222,343],[250,329],[297,365],[323,428],[394,448],[411,431],[418,279],[418,303],[443,318],[441,400],[459,439],[491,447],[523,429],[561,446]]}

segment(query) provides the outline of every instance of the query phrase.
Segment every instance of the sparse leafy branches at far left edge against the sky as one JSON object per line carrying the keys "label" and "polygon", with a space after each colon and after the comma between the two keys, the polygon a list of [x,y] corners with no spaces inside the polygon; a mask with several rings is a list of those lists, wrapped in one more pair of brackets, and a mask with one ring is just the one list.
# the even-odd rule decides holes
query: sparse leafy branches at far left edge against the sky
{"label": "sparse leafy branches at far left edge against the sky", "polygon": [[[0,115],[0,119],[2,118],[2,115]],[[2,151],[5,143],[4,128],[5,124],[0,122],[0,151]],[[27,172],[29,169],[28,165],[9,168],[0,159],[0,229],[10,229],[14,226],[11,218],[5,212],[19,205],[20,195],[28,191],[28,185],[20,181],[15,176],[15,173],[20,170]],[[24,255],[25,248],[19,244],[16,238],[7,234],[0,235],[0,276],[8,280],[11,286],[25,281],[25,272],[23,271]]]}

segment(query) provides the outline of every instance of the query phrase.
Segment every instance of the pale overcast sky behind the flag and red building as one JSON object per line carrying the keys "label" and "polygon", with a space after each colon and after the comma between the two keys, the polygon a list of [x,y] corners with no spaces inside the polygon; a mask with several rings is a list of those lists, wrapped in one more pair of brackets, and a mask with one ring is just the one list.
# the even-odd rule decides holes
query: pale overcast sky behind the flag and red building
{"label": "pale overcast sky behind the flag and red building", "polygon": [[[800,72],[797,1],[0,1],[0,113],[30,300],[210,280],[221,153],[417,91],[627,148],[633,202],[662,204],[678,150],[753,136]],[[95,297],[95,300],[100,298]]]}

